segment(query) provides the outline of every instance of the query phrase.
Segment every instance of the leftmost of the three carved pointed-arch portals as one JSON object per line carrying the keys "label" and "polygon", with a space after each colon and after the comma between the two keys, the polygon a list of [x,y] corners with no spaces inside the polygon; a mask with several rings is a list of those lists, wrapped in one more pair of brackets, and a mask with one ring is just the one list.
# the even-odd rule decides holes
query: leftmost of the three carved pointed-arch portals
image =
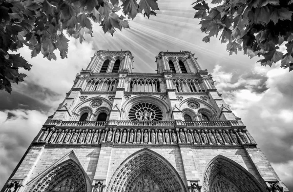
{"label": "leftmost of the three carved pointed-arch portals", "polygon": [[29,192],[87,192],[83,171],[73,160],[66,160],[45,172]]}

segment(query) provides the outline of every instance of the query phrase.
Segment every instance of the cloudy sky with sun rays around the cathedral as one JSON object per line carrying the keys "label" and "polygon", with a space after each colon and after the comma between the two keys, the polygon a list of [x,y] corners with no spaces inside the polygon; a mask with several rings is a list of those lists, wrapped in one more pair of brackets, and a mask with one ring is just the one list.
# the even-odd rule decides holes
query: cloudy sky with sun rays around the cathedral
{"label": "cloudy sky with sun rays around the cathedral", "polygon": [[[184,2],[184,3],[182,3]],[[96,50],[130,50],[133,72],[155,73],[160,51],[188,50],[216,80],[233,113],[242,121],[272,163],[282,181],[293,191],[293,72],[279,64],[261,67],[258,58],[243,53],[229,56],[217,38],[202,42],[199,20],[193,19],[192,0],[159,0],[160,11],[150,19],[138,15],[130,28],[112,37],[94,25],[93,38],[82,44],[70,38],[67,59],[48,61],[30,50],[19,53],[33,65],[28,77],[13,86],[12,94],[0,91],[0,187],[4,185],[33,138],[52,115]],[[56,55],[59,53],[56,52]]]}

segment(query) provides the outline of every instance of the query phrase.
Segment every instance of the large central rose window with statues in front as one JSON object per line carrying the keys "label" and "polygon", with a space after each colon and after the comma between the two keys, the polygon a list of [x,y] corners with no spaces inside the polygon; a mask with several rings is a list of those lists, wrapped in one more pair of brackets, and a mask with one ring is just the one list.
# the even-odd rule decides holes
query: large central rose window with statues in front
{"label": "large central rose window with statues in front", "polygon": [[151,103],[139,103],[131,107],[128,117],[132,121],[161,121],[163,112]]}

